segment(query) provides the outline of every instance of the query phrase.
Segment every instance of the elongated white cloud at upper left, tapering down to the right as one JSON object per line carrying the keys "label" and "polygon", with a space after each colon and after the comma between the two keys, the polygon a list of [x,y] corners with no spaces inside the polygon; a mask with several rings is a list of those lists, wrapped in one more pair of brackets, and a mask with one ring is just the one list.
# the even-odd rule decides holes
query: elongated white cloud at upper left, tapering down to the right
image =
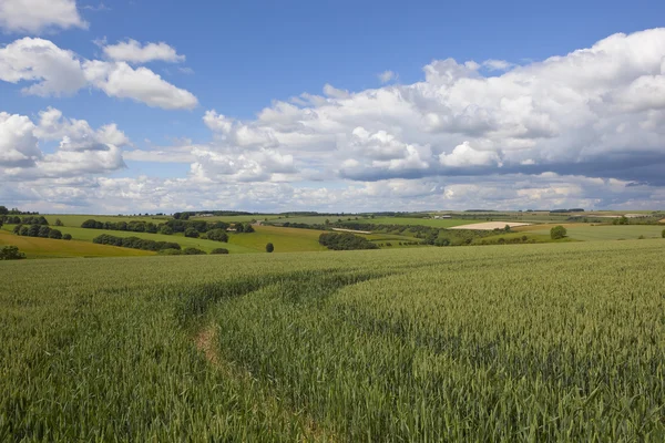
{"label": "elongated white cloud at upper left, tapering down to the right", "polygon": [[73,94],[90,86],[109,96],[166,110],[190,110],[198,104],[191,92],[164,81],[147,68],[83,60],[43,39],[24,38],[0,48],[0,80],[32,83],[22,89],[30,95]]}

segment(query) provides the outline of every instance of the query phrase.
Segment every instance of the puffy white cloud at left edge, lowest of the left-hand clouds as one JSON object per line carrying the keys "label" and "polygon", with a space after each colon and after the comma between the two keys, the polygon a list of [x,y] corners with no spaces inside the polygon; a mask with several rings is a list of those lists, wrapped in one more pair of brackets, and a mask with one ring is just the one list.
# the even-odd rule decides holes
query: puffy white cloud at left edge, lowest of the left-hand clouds
{"label": "puffy white cloud at left edge, lowest of the left-hand clouds", "polygon": [[[60,141],[51,153],[40,142]],[[33,181],[104,174],[125,167],[122,146],[129,138],[114,124],[93,130],[86,121],[65,119],[55,109],[28,116],[0,113],[0,179]]]}

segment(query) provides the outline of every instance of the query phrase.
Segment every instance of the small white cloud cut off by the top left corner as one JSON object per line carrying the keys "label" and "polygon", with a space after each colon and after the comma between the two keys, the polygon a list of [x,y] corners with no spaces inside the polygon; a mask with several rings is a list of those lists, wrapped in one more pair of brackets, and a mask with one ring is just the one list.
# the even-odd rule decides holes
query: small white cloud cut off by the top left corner
{"label": "small white cloud cut off by the top left corner", "polygon": [[40,33],[49,29],[88,28],[75,0],[2,0],[0,28],[9,32]]}

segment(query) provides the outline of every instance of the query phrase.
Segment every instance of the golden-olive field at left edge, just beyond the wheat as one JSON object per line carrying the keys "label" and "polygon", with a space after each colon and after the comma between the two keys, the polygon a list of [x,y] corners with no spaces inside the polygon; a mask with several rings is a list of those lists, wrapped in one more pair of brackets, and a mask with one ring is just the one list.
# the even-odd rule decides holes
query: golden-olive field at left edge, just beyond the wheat
{"label": "golden-olive field at left edge, just beyond the wheat", "polygon": [[156,254],[149,250],[95,245],[89,241],[21,237],[7,230],[0,230],[0,246],[6,245],[17,246],[28,258],[133,257],[154,256]]}

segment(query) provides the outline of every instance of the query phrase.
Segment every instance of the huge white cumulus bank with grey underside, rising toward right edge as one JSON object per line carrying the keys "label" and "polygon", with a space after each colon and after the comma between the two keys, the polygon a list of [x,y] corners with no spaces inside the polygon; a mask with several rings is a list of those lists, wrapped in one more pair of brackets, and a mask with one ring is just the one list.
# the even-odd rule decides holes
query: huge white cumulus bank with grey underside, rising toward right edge
{"label": "huge white cumulus bank with grey underside, rising toward right edge", "polygon": [[413,84],[326,85],[255,120],[204,121],[229,145],[310,165],[316,152],[321,174],[355,181],[554,172],[665,184],[664,63],[665,29],[653,29],[519,66],[436,60]]}

